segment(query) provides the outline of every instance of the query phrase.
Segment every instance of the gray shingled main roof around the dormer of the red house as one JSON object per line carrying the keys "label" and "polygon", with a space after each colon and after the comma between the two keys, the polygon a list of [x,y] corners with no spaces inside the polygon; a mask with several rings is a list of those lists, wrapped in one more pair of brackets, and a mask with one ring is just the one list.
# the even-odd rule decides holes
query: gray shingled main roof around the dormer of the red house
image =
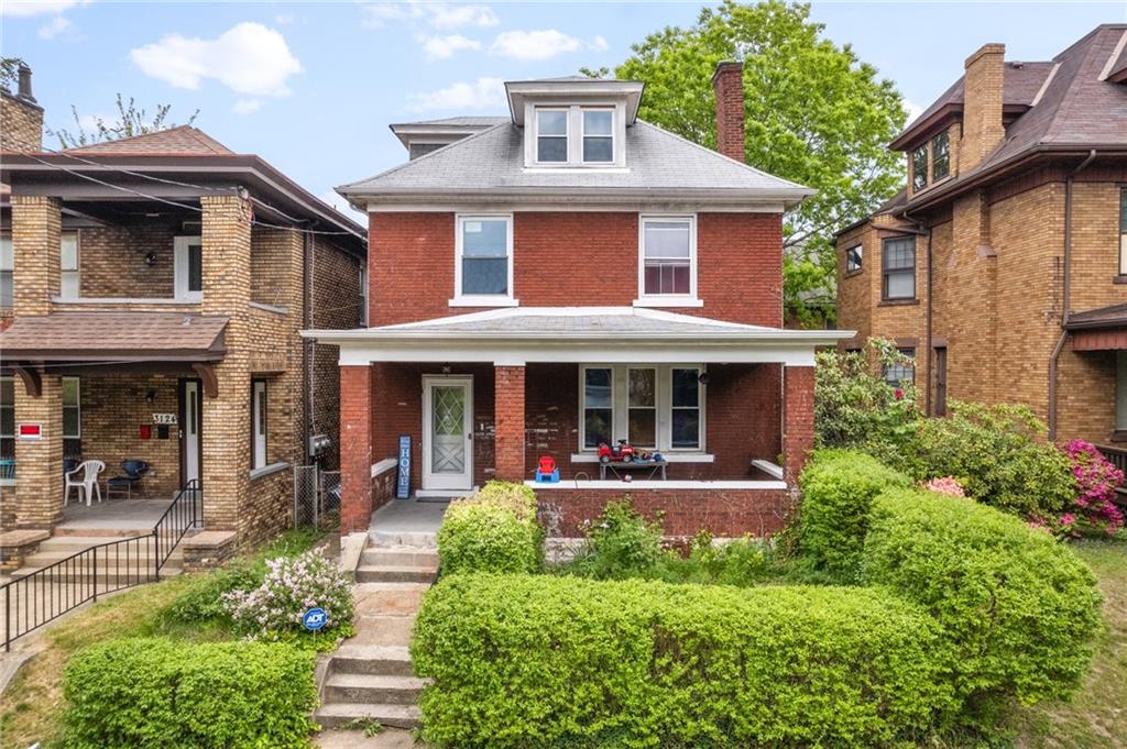
{"label": "gray shingled main roof around the dormer of the red house", "polygon": [[797,200],[813,190],[767,175],[655,125],[627,128],[628,169],[526,169],[523,131],[507,119],[369,179],[344,185],[348,197],[443,193],[535,193],[585,188],[621,191],[724,191]]}

